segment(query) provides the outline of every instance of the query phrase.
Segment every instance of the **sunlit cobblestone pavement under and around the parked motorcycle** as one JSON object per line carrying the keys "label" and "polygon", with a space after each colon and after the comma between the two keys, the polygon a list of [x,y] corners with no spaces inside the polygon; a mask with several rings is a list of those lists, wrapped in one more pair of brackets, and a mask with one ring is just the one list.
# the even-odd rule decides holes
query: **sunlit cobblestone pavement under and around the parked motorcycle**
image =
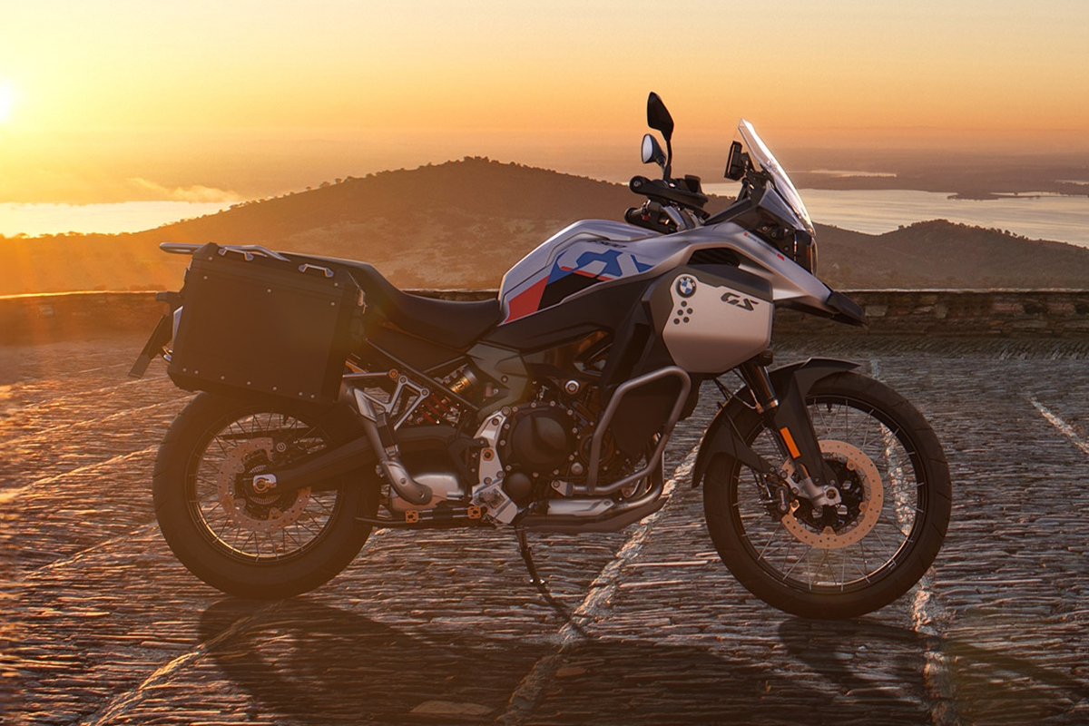
{"label": "sunlit cobblestone pavement under and around the parked motorcycle", "polygon": [[[787,341],[930,418],[954,481],[935,566],[812,623],[718,561],[678,427],[648,522],[533,539],[381,531],[328,586],[224,598],[159,536],[155,448],[188,396],[142,341],[0,349],[0,721],[11,724],[1089,723],[1089,368],[1048,343]],[[570,617],[564,617],[567,613]]]}

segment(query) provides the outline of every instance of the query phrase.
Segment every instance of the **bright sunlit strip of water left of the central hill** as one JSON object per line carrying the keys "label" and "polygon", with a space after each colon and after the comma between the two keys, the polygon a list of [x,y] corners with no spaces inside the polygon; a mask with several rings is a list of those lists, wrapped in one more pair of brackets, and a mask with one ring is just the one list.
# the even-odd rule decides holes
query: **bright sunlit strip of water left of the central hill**
{"label": "bright sunlit strip of water left of the central hill", "polygon": [[163,224],[215,214],[230,201],[123,201],[109,205],[0,204],[0,235],[143,232]]}

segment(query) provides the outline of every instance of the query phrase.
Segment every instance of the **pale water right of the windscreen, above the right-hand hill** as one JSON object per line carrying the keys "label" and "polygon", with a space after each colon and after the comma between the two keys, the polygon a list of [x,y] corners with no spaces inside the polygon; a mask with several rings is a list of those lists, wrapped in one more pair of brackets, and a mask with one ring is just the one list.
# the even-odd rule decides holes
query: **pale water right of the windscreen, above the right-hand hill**
{"label": "pale water right of the windscreen, above the right-hand hill", "polygon": [[[707,184],[710,194],[735,195],[736,184]],[[809,216],[819,224],[882,234],[897,226],[946,219],[1008,230],[1032,239],[1089,247],[1089,197],[1026,193],[999,199],[950,199],[947,194],[908,189],[802,189]]]}

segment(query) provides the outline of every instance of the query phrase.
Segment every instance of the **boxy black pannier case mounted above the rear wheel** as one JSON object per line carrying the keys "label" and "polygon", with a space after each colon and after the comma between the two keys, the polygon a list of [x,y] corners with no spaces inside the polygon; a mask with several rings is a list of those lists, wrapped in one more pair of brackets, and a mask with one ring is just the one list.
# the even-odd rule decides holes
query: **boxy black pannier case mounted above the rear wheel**
{"label": "boxy black pannier case mounted above the rear wheel", "polygon": [[343,269],[207,244],[193,254],[167,372],[188,391],[331,404],[362,330]]}

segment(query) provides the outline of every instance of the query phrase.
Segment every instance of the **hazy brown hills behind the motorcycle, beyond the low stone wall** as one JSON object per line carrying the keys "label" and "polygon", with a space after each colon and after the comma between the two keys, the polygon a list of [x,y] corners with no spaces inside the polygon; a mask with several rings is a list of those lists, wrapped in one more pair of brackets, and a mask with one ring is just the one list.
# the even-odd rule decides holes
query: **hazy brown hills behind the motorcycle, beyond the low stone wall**
{"label": "hazy brown hills behind the motorcycle, beyond the low stone wall", "polygon": [[[122,235],[0,237],[0,295],[176,288],[186,258],[160,242],[261,244],[363,259],[403,287],[495,287],[571,222],[620,219],[619,184],[480,158],[347,179]],[[721,209],[727,200],[709,205]],[[820,272],[837,287],[1085,287],[1089,250],[944,221],[883,235],[818,227]]]}

